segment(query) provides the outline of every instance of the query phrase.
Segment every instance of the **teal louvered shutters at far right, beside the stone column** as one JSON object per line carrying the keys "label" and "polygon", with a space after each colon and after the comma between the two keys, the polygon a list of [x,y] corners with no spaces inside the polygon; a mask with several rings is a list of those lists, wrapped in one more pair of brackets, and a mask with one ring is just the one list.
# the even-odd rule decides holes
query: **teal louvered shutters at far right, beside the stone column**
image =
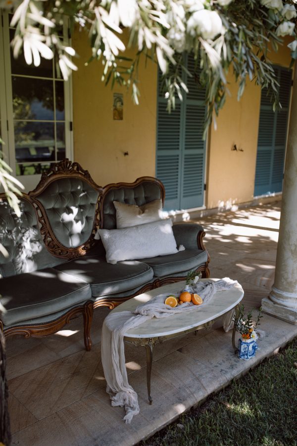
{"label": "teal louvered shutters at far right, beside the stone column", "polygon": [[275,67],[282,109],[272,110],[267,90],[261,94],[254,195],[281,192],[286,152],[292,71]]}

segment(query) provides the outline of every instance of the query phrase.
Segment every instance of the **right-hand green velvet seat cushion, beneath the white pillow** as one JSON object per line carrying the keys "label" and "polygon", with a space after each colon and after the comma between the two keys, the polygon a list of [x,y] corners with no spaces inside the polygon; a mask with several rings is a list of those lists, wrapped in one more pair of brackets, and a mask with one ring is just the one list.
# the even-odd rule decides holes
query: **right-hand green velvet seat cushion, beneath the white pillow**
{"label": "right-hand green velvet seat cushion, beneath the white pillow", "polygon": [[179,251],[174,255],[138,260],[149,265],[155,277],[164,277],[198,268],[207,262],[207,253],[200,249],[185,249],[185,251]]}

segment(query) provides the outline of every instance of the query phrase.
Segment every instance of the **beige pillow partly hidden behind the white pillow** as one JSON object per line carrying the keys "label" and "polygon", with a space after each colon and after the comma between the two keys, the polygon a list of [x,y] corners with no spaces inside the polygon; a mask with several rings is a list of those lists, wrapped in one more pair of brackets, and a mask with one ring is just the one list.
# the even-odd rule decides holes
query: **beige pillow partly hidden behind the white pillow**
{"label": "beige pillow partly hidden behind the white pillow", "polygon": [[116,210],[116,227],[118,229],[156,222],[162,218],[162,200],[154,200],[143,206],[130,205],[118,201],[114,201],[113,204]]}

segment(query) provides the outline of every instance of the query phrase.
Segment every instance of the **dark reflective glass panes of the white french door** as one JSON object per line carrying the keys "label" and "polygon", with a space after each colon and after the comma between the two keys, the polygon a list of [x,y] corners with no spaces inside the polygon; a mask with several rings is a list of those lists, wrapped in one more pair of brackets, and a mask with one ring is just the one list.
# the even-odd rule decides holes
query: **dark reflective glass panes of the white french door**
{"label": "dark reflective glass panes of the white french door", "polygon": [[[14,30],[9,32],[11,40]],[[35,67],[23,54],[10,54],[16,175],[40,174],[65,158],[64,81],[56,72],[57,55],[42,57]]]}

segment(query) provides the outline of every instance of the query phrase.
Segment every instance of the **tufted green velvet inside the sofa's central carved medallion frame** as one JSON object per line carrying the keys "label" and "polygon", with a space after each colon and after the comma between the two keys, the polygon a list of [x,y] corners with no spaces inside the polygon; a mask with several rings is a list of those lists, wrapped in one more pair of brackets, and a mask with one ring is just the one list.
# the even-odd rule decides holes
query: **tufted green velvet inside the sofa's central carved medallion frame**
{"label": "tufted green velvet inside the sofa's central carved medallion frame", "polygon": [[46,210],[56,239],[76,248],[91,236],[98,190],[80,178],[57,178],[36,198]]}

